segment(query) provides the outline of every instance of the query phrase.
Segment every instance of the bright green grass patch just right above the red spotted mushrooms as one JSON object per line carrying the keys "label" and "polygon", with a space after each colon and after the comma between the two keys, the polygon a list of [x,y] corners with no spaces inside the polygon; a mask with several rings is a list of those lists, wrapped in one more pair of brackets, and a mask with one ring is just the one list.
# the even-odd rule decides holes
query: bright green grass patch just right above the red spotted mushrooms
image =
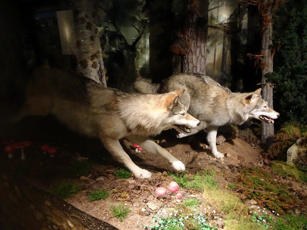
{"label": "bright green grass patch just right above the red spotted mushrooms", "polygon": [[179,176],[173,173],[169,173],[174,178],[179,187],[192,188],[197,191],[203,191],[207,187],[217,188],[218,184],[214,180],[215,171],[202,171],[195,175],[183,172]]}

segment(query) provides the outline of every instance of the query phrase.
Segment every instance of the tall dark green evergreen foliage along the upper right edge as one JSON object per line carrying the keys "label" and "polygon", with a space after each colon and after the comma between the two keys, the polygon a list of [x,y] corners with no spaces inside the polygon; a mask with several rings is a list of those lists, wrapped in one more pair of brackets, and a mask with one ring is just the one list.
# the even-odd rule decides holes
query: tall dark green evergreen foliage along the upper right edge
{"label": "tall dark green evergreen foliage along the upper right edge", "polygon": [[274,109],[281,119],[307,120],[307,5],[305,0],[280,4],[274,17]]}

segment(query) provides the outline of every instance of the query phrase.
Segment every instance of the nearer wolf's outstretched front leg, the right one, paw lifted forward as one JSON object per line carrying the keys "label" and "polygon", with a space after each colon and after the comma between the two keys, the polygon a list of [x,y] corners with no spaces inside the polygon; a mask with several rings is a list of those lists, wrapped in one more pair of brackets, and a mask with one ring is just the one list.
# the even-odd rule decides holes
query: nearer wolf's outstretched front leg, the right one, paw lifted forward
{"label": "nearer wolf's outstretched front leg, the right one, paw lifted forward", "polygon": [[185,171],[185,165],[180,160],[171,155],[168,151],[166,151],[164,148],[154,142],[151,138],[142,136],[127,136],[126,138],[127,140],[138,144],[146,151],[160,155],[162,158],[166,159],[169,163],[171,163],[176,171]]}

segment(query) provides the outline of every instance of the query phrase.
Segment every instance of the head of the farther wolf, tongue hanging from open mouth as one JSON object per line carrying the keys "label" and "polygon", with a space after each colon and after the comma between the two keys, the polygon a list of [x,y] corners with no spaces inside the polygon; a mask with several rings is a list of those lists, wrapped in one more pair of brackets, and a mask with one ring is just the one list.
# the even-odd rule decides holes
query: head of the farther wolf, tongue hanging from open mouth
{"label": "head of the farther wolf, tongue hanging from open mouth", "polygon": [[274,123],[273,119],[278,118],[280,114],[269,107],[261,98],[260,92],[261,89],[258,89],[245,98],[245,106],[250,107],[249,119],[256,118],[266,123]]}

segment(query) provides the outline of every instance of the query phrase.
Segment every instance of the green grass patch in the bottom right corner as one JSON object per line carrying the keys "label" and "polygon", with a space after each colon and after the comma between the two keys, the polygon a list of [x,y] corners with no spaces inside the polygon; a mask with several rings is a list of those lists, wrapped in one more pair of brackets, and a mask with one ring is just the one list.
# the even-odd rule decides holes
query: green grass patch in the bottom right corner
{"label": "green grass patch in the bottom right corner", "polygon": [[274,225],[275,230],[306,230],[307,218],[306,216],[292,216],[286,214],[283,218],[278,218]]}

